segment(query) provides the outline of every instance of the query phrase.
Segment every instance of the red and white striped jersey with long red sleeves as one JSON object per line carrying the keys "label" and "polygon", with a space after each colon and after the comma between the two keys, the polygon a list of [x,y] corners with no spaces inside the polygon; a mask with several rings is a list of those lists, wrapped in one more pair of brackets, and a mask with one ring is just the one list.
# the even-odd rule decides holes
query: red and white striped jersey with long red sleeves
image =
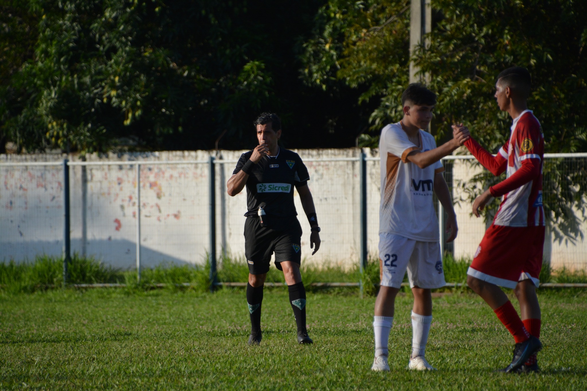
{"label": "red and white striped jersey with long red sleeves", "polygon": [[507,179],[490,188],[494,197],[503,196],[493,223],[510,227],[544,226],[544,134],[532,111],[525,110],[514,118],[510,140],[497,156],[493,157],[472,138],[465,146],[494,175],[507,170]]}

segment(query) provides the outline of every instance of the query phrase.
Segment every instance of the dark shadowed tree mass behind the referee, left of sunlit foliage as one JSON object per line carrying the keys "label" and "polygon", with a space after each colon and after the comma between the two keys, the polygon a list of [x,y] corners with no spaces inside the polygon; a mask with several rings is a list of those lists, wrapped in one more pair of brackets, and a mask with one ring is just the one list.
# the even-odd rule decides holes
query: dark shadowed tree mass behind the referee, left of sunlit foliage
{"label": "dark shadowed tree mass behind the referee, left of sunlit foliage", "polygon": [[26,151],[243,148],[276,111],[289,145],[336,145],[329,107],[352,123],[356,93],[316,93],[296,59],[319,3],[4,0],[0,129]]}

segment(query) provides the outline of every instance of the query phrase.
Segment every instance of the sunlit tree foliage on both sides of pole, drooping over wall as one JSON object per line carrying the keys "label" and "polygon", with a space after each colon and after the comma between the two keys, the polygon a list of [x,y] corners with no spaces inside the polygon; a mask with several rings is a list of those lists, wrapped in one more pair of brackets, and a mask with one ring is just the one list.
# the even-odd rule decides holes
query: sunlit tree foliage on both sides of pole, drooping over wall
{"label": "sunlit tree foliage on both sides of pole, drooping over wall", "polygon": [[[410,60],[408,4],[330,0],[305,46],[307,83],[324,89],[333,80],[366,84],[359,103],[379,101],[370,113],[373,132],[363,137],[365,145],[376,145],[374,134],[402,117],[400,96]],[[438,94],[433,121],[438,142],[451,136],[451,124],[463,122],[482,145],[497,151],[510,136],[511,118],[495,104],[495,77],[507,67],[524,66],[532,74],[528,103],[541,121],[546,152],[587,151],[585,2],[437,0],[432,6],[433,29],[412,59]],[[556,179],[557,189],[545,193],[544,203],[555,234],[573,239],[581,236],[587,179],[584,163],[575,163],[573,171],[568,164],[545,165],[545,181]],[[485,172],[463,186],[472,200],[502,179]]]}

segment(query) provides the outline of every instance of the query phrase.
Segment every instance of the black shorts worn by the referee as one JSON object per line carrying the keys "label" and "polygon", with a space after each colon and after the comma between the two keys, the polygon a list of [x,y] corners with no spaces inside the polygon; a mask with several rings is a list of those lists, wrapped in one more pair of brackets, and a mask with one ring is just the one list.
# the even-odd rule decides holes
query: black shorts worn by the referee
{"label": "black shorts worn by the referee", "polygon": [[270,217],[268,227],[262,227],[259,217],[249,216],[245,222],[245,257],[249,273],[264,274],[269,271],[271,255],[275,251],[275,267],[282,261],[301,264],[302,227],[296,216]]}

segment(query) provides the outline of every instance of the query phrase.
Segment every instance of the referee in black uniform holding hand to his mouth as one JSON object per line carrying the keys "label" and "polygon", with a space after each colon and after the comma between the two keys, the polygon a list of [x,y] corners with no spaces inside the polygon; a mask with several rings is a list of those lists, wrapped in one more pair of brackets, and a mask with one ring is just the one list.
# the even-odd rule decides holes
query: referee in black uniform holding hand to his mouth
{"label": "referee in black uniform holding hand to his mouth", "polygon": [[279,148],[281,120],[274,113],[259,115],[254,123],[259,145],[241,155],[228,179],[228,195],[235,196],[247,186],[245,256],[249,266],[247,304],[251,315],[249,345],[261,342],[261,303],[263,285],[269,271],[271,254],[275,266],[284,272],[289,301],[298,326],[298,342],[312,344],[306,329],[306,290],[299,266],[302,227],[294,205],[294,186],[311,226],[310,247],[320,248],[320,227],[312,194],[308,188],[308,169],[298,154]]}

